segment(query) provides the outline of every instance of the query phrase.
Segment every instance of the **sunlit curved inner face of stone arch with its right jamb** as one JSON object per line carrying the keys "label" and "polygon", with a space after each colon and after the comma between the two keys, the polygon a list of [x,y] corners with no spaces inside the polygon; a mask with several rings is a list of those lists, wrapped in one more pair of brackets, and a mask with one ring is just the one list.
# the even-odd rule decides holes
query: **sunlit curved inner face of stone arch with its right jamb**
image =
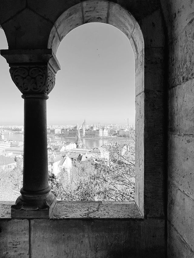
{"label": "sunlit curved inner face of stone arch with its right jamb", "polygon": [[[110,24],[129,39],[135,57],[135,202],[144,214],[144,39],[135,18],[120,5],[101,0],[87,0],[62,13],[52,27],[48,48],[56,55],[62,39],[73,29],[89,22]],[[141,95],[141,96],[140,96]]]}

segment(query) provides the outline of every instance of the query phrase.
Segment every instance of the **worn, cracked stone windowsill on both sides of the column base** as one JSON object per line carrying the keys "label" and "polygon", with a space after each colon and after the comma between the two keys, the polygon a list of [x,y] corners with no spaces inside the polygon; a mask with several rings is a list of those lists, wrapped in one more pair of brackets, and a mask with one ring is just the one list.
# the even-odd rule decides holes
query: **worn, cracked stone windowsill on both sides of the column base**
{"label": "worn, cracked stone windowsill on both sides of the column base", "polygon": [[[11,218],[11,205],[0,201],[0,218]],[[69,218],[143,218],[135,202],[57,201],[51,219]]]}

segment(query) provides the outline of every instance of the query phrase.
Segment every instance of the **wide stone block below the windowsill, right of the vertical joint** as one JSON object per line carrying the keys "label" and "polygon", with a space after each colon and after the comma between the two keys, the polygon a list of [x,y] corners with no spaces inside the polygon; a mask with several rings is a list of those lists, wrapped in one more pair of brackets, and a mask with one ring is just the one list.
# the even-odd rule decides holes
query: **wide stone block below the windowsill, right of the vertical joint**
{"label": "wide stone block below the windowsill, right of the vertical joint", "polygon": [[164,258],[159,219],[33,220],[31,226],[32,258]]}

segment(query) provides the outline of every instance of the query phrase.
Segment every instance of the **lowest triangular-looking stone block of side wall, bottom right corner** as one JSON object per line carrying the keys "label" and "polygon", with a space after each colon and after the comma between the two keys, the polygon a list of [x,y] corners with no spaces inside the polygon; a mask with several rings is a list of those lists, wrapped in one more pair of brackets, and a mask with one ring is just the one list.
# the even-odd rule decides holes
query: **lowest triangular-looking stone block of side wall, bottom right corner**
{"label": "lowest triangular-looking stone block of side wall, bottom right corner", "polygon": [[182,236],[168,222],[168,257],[193,258],[194,253]]}

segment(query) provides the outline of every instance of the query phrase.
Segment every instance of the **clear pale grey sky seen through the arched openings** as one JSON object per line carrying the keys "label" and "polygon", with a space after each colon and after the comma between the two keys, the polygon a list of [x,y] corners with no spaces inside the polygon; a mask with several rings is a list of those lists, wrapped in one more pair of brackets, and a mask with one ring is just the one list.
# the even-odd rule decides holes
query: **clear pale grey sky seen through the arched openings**
{"label": "clear pale grey sky seen through the arched openings", "polygon": [[[0,29],[0,48],[7,49]],[[61,70],[47,100],[47,124],[135,124],[135,60],[129,40],[103,23],[79,26],[65,36]],[[0,56],[0,125],[23,124],[22,93]]]}

